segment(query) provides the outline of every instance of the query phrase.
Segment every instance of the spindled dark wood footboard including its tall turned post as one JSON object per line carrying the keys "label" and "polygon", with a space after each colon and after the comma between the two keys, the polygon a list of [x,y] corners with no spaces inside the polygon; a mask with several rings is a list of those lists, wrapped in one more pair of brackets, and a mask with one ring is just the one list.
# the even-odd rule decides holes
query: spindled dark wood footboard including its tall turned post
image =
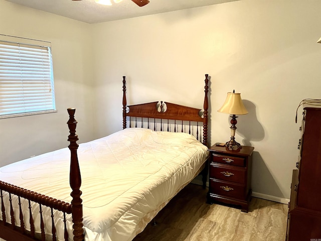
{"label": "spindled dark wood footboard including its tall turned post", "polygon": [[[68,113],[71,204],[0,181],[0,238],[7,241],[84,240],[75,109],[69,108]],[[72,214],[72,220],[67,214]]]}

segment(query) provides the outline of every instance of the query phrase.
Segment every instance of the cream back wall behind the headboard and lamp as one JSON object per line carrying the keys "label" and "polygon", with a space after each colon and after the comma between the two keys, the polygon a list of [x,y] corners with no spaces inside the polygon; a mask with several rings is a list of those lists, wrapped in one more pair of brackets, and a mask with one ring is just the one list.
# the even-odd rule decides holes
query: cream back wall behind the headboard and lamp
{"label": "cream back wall behind the headboard and lamp", "polygon": [[229,117],[217,109],[228,91],[241,92],[249,114],[239,116],[236,140],[255,147],[253,192],[286,202],[298,155],[295,110],[320,98],[320,9],[313,0],[242,0],[93,25],[97,137],[122,127],[122,75],[128,104],[202,107],[208,73],[211,144],[229,140]]}

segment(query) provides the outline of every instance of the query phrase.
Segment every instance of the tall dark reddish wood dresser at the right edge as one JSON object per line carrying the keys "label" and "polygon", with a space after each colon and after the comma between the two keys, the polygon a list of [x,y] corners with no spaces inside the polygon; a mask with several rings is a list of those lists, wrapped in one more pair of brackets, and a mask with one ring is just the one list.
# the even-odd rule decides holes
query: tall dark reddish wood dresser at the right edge
{"label": "tall dark reddish wood dresser at the right edge", "polygon": [[305,107],[292,172],[287,241],[321,238],[321,108]]}

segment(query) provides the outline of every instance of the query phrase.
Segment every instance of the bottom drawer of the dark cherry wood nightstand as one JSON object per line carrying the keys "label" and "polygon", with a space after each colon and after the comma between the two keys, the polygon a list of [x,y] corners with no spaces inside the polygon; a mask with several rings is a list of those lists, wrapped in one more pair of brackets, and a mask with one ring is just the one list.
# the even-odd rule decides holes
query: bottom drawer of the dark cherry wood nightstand
{"label": "bottom drawer of the dark cherry wood nightstand", "polygon": [[213,193],[235,199],[244,199],[244,185],[230,182],[221,182],[210,179],[210,188]]}

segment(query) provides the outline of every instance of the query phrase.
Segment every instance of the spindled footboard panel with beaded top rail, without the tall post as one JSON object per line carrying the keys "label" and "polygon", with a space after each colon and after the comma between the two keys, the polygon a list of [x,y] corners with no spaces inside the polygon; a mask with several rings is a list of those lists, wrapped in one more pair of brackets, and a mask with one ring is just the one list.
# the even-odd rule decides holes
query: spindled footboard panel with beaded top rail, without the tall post
{"label": "spindled footboard panel with beaded top rail, without the tall post", "polygon": [[[57,240],[55,226],[57,221],[54,219],[54,210],[59,210],[63,213],[64,238],[65,240],[68,240],[66,214],[71,213],[71,204],[2,181],[0,181],[0,191],[2,210],[0,237],[7,241],[45,240],[46,232],[43,206],[46,206],[51,210],[52,240]],[[5,203],[8,204],[8,202],[9,205],[5,205]],[[6,210],[6,206],[10,207],[9,210]],[[26,211],[26,207],[29,211]],[[32,210],[38,210],[38,213],[35,214]],[[8,213],[9,215],[7,215]],[[40,223],[35,223],[35,216],[39,216],[37,219],[40,219]],[[10,223],[7,220],[10,220]],[[36,228],[37,230],[40,230],[40,233],[36,233],[35,225],[38,225],[38,228]],[[46,227],[46,230],[48,229],[49,228]]]}

